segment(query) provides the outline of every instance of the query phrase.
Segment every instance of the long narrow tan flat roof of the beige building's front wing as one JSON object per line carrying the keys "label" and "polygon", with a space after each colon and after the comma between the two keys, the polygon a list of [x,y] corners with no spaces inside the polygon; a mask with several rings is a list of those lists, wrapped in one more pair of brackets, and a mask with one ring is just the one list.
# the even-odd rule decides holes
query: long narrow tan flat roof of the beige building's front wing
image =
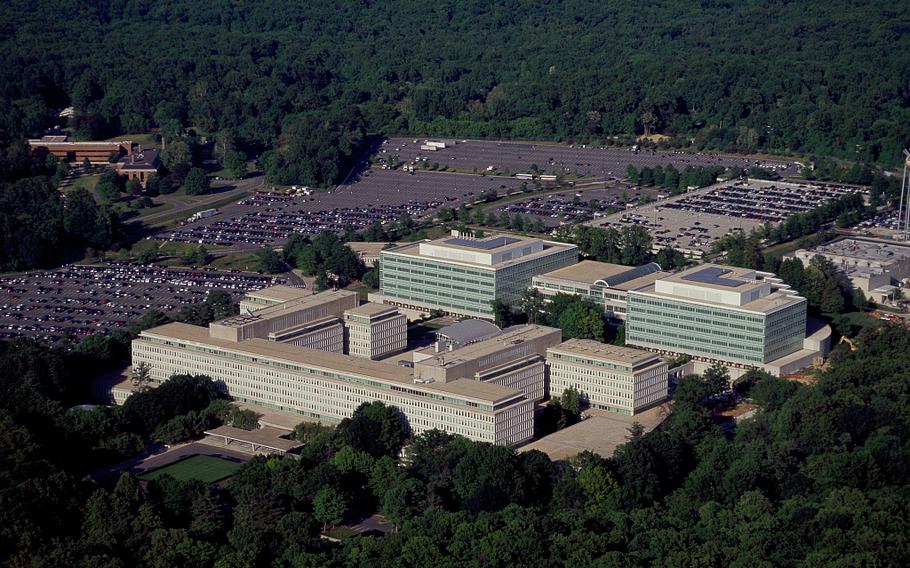
{"label": "long narrow tan flat roof of the beige building's front wing", "polygon": [[[258,355],[326,371],[359,375],[366,379],[407,386],[414,390],[451,393],[486,404],[497,404],[520,396],[520,393],[513,389],[467,379],[449,383],[440,381],[415,383],[412,369],[398,367],[392,363],[317,351],[265,339],[250,339],[235,343],[213,338],[209,336],[206,328],[185,323],[174,322],[148,329],[140,334],[139,338],[142,339],[143,337],[154,337],[164,340],[173,339],[203,347],[216,347],[241,355]],[[217,355],[210,355],[210,357],[217,357]]]}

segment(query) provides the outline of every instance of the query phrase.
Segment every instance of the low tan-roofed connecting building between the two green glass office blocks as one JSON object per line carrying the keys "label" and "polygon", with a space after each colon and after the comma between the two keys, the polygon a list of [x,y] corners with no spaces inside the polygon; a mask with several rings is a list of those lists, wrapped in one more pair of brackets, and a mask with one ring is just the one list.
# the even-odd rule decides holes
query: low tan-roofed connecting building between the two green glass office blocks
{"label": "low tan-roofed connecting building between the two green glass office blocks", "polygon": [[626,319],[626,301],[630,290],[640,290],[667,276],[655,263],[623,266],[594,260],[583,260],[531,279],[531,286],[544,296],[572,294],[592,301],[613,320]]}

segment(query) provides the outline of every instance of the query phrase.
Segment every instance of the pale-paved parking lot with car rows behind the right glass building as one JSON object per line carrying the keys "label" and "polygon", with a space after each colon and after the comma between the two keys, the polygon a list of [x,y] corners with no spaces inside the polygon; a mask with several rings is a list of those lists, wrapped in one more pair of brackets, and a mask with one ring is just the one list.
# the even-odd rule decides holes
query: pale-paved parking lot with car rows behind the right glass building
{"label": "pale-paved parking lot with car rows behind the right glass building", "polygon": [[690,256],[711,250],[715,241],[733,231],[749,232],[768,222],[808,211],[856,188],[833,184],[724,182],[595,219],[597,227],[641,225],[655,247],[673,247]]}

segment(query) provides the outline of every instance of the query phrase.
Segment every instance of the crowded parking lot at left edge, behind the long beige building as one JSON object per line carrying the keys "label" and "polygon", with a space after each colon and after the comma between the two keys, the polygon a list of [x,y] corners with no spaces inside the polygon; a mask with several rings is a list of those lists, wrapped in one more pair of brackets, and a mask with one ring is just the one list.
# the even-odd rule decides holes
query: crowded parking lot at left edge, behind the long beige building
{"label": "crowded parking lot at left edge, behind the long beige building", "polygon": [[149,310],[179,311],[212,290],[239,298],[247,290],[283,283],[243,272],[120,264],[9,275],[0,278],[0,338],[78,339],[123,327]]}

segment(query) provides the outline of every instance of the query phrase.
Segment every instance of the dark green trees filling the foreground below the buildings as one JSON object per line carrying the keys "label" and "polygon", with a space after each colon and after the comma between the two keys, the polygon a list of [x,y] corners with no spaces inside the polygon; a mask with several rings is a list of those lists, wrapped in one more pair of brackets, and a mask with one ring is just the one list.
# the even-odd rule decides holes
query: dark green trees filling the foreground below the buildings
{"label": "dark green trees filling the foreground below the buildings", "polygon": [[[608,459],[567,463],[431,431],[364,404],[303,425],[300,459],[257,457],[226,484],[87,474],[225,410],[205,378],[67,410],[71,355],[0,344],[0,563],[7,566],[906,566],[910,332],[841,347],[816,384],[751,372],[759,406],[725,434],[723,373],[684,378],[668,419]],[[203,426],[204,427],[204,426]],[[399,449],[404,447],[399,461]],[[382,510],[395,530],[320,530]]]}

